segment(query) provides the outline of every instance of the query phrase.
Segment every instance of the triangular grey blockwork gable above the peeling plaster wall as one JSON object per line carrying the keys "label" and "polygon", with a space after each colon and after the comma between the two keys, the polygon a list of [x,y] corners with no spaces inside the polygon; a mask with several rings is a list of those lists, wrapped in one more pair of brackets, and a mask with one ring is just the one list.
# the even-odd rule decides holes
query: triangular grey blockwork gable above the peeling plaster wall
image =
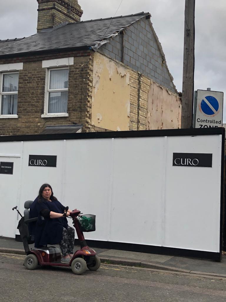
{"label": "triangular grey blockwork gable above the peeling plaster wall", "polygon": [[[127,28],[124,33],[123,63],[177,93],[155,36],[150,20],[146,18]],[[116,36],[99,50],[122,62],[122,35]]]}

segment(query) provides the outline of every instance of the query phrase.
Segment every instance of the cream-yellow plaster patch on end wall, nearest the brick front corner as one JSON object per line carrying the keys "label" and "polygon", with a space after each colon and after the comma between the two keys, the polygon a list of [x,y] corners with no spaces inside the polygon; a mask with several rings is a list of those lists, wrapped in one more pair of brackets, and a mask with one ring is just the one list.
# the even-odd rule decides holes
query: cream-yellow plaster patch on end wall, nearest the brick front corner
{"label": "cream-yellow plaster patch on end wall, nearest the brick front corner", "polygon": [[130,70],[100,53],[93,59],[93,126],[129,130]]}

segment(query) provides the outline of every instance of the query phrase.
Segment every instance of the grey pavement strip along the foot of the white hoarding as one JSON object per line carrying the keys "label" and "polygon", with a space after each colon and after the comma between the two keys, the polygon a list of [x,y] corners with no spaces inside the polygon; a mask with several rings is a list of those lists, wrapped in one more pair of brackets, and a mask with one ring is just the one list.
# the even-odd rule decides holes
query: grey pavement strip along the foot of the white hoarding
{"label": "grey pavement strip along the foot of the white hoarding", "polygon": [[[31,244],[30,248],[33,247]],[[226,278],[226,255],[222,255],[221,262],[216,262],[206,259],[128,252],[115,249],[99,249],[95,246],[90,247],[97,252],[101,262],[106,264],[137,266],[155,270]],[[75,246],[74,251],[77,249],[80,249],[80,247]],[[4,237],[0,237],[0,252],[25,255],[22,242]]]}

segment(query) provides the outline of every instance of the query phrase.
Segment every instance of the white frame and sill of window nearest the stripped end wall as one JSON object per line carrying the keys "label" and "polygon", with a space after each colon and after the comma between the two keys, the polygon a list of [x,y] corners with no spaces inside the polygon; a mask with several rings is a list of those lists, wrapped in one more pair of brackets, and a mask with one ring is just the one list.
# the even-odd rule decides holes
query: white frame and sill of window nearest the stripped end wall
{"label": "white frame and sill of window nearest the stripped end wall", "polygon": [[[50,72],[52,70],[69,70],[69,67],[60,67],[60,68],[46,68],[46,89],[45,89],[45,100],[44,100],[44,114],[41,117],[68,117],[69,114],[67,112],[59,112],[59,113],[48,113],[48,104],[49,104],[49,93],[50,92],[68,92],[67,88],[61,89],[50,89]],[[68,74],[69,81],[69,74]]]}

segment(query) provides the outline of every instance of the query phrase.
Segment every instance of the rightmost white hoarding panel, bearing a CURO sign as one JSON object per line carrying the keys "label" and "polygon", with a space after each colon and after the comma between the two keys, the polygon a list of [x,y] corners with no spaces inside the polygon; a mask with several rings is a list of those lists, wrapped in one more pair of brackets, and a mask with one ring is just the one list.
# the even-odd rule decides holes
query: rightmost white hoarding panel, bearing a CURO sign
{"label": "rightmost white hoarding panel, bearing a CURO sign", "polygon": [[[212,168],[197,167],[197,161],[173,166],[175,151],[186,153],[186,158],[193,153],[212,154]],[[208,140],[204,136],[167,138],[164,246],[219,252],[220,151],[221,137],[216,135]]]}

